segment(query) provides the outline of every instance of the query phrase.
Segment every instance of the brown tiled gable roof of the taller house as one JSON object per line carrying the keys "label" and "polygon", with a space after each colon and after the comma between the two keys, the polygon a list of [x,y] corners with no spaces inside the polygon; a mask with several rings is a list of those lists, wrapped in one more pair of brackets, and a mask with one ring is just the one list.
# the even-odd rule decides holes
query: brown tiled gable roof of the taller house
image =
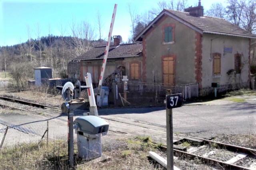
{"label": "brown tiled gable roof of the taller house", "polygon": [[136,41],[141,41],[141,36],[144,35],[154,23],[156,23],[163,16],[170,16],[177,21],[187,25],[191,29],[199,33],[210,33],[218,35],[228,35],[237,37],[256,38],[256,35],[245,31],[244,29],[230,23],[223,18],[216,18],[210,16],[193,16],[189,12],[174,11],[164,9],[142,32],[136,37]]}

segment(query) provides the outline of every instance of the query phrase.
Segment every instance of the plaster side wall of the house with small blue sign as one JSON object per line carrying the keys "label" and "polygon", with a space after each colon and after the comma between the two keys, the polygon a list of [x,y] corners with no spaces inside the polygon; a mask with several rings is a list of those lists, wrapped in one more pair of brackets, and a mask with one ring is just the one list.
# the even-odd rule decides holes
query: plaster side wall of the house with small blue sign
{"label": "plaster side wall of the house with small blue sign", "polygon": [[[212,39],[212,44],[211,44]],[[220,86],[248,81],[249,71],[249,39],[224,35],[204,34],[202,40],[202,88],[211,87],[212,82],[219,82]],[[232,52],[224,52],[225,48],[232,48]],[[213,76],[212,54],[221,54],[221,76]],[[235,68],[235,54],[242,55],[242,70],[240,74],[228,76],[227,72]]]}

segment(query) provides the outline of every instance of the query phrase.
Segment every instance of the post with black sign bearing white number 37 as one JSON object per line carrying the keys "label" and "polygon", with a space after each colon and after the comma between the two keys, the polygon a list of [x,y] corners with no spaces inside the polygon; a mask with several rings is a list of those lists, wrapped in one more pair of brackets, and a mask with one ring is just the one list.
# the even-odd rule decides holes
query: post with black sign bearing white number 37
{"label": "post with black sign bearing white number 37", "polygon": [[181,106],[182,94],[172,94],[172,90],[166,90],[167,170],[174,170],[172,108]]}

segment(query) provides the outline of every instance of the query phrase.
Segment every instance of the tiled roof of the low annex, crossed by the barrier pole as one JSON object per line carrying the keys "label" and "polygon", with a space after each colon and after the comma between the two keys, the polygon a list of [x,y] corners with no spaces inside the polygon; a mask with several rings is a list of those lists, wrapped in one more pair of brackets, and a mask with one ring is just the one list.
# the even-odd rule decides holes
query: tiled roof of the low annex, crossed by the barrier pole
{"label": "tiled roof of the low annex, crossed by the barrier pole", "polygon": [[[103,59],[105,50],[106,50],[106,46],[94,47],[94,49],[80,55],[79,57],[73,59],[73,61]],[[117,47],[114,47],[112,45],[109,47],[108,59],[139,57],[142,55],[141,53],[142,53],[142,43],[122,44]]]}

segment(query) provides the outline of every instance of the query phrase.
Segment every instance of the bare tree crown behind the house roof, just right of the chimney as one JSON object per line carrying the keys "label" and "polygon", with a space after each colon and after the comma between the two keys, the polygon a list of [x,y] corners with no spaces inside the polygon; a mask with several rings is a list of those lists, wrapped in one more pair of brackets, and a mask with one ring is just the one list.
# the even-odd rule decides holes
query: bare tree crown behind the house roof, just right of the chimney
{"label": "bare tree crown behind the house roof, just right of the chimney", "polygon": [[206,11],[206,15],[217,18],[225,18],[226,9],[222,3],[214,3],[211,5],[210,9]]}

